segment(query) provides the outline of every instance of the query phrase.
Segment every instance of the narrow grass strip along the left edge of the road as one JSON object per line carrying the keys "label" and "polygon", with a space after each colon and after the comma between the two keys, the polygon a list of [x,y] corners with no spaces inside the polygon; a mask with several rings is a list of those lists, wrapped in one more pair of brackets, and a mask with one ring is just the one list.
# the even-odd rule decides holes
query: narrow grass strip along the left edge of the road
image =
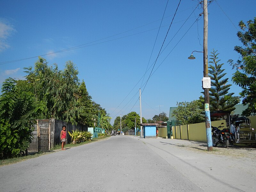
{"label": "narrow grass strip along the left edge of the road", "polygon": [[[85,141],[85,142],[77,143],[77,144],[72,144],[72,143],[71,144],[66,144],[64,148],[77,147],[77,146],[81,146],[81,145],[84,145],[84,144],[87,144],[87,143],[92,143],[92,142],[95,142],[95,141],[103,140],[103,139],[106,139],[108,137],[109,136],[104,137],[104,138],[93,138],[91,141]],[[49,154],[49,153],[53,153],[56,150],[58,151],[59,149],[61,149],[61,144],[55,145],[53,148],[50,149],[50,151],[32,152],[32,153],[28,153],[28,156],[14,157],[14,158],[10,158],[10,159],[2,159],[2,160],[0,160],[0,167],[4,166],[4,165],[19,163],[21,161],[26,161],[28,159],[36,158],[36,157],[46,155],[46,154]]]}

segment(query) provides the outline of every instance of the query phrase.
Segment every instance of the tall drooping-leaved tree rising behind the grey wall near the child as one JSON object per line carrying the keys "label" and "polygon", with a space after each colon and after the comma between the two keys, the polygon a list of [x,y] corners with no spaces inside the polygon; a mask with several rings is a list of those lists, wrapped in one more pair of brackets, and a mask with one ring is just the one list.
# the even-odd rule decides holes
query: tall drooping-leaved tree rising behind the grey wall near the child
{"label": "tall drooping-leaved tree rising behind the grey wall near the child", "polygon": [[68,61],[62,71],[56,64],[54,68],[48,67],[48,62],[39,57],[34,70],[32,67],[24,69],[27,70],[25,72],[28,74],[28,83],[34,88],[31,91],[35,94],[36,100],[46,105],[44,118],[56,118],[76,124],[76,119],[83,113],[83,106],[78,105],[74,96],[79,85],[75,65]]}

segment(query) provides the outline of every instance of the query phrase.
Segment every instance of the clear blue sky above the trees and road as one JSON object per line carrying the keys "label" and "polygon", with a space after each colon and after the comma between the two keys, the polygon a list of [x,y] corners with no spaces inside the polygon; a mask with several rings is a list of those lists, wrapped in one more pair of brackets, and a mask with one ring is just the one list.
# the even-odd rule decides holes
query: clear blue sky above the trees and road
{"label": "clear blue sky above the trees and road", "polygon": [[[120,114],[140,114],[139,88],[143,90],[143,117],[152,119],[159,114],[159,105],[169,116],[169,108],[177,101],[196,100],[203,91],[203,54],[194,52],[196,60],[188,60],[192,51],[203,51],[203,16],[196,21],[203,10],[200,5],[196,7],[198,0],[181,0],[164,42],[179,0],[169,0],[165,10],[166,3],[2,0],[0,83],[8,77],[24,79],[23,68],[34,66],[39,55],[60,69],[71,60],[92,100],[107,110],[112,123]],[[229,84],[235,70],[227,60],[238,59],[234,46],[241,45],[236,36],[238,22],[253,19],[255,7],[255,0],[215,0],[208,6],[208,55],[212,49],[218,50]],[[20,61],[8,62],[13,60]],[[153,75],[148,79],[151,71]],[[229,92],[238,96],[240,91],[232,85]]]}

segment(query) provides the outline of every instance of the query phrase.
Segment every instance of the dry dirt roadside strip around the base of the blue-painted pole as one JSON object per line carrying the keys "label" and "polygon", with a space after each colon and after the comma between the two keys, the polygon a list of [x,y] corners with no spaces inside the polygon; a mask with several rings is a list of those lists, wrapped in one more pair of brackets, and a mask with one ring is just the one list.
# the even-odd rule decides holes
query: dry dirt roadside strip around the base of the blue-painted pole
{"label": "dry dirt roadside strip around the base of the blue-painted pole", "polygon": [[256,162],[256,148],[252,146],[230,145],[228,148],[223,148],[221,145],[213,147],[213,151],[207,151],[207,143],[189,141],[184,144],[176,144],[180,148],[194,151],[196,153],[211,153],[220,156],[228,156],[232,158],[246,158]]}

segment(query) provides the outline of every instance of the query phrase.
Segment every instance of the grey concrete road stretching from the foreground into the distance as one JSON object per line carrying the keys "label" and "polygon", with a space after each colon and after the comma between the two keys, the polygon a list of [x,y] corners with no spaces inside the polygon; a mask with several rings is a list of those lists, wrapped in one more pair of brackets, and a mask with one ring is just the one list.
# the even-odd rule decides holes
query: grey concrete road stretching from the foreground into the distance
{"label": "grey concrete road stretching from the foreground into the distance", "polygon": [[255,191],[255,161],[188,150],[189,142],[112,136],[0,167],[0,191]]}

